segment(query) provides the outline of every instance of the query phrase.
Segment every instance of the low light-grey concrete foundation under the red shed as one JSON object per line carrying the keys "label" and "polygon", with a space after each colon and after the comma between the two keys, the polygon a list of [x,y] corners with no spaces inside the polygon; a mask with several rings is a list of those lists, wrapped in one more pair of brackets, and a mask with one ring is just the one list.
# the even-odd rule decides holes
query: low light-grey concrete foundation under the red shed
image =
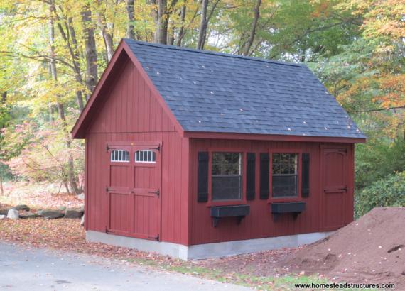
{"label": "low light-grey concrete foundation under the red shed", "polygon": [[141,238],[117,236],[98,231],[86,231],[86,239],[95,243],[107,243],[113,246],[136,248],[139,251],[161,253],[162,255],[182,260],[196,260],[268,251],[276,248],[292,248],[306,243],[313,243],[330,234],[333,234],[333,231],[277,236],[274,238],[254,238],[244,241],[226,241],[223,243],[204,243],[194,246],[183,246],[178,243],[167,243],[165,241],[148,241]]}

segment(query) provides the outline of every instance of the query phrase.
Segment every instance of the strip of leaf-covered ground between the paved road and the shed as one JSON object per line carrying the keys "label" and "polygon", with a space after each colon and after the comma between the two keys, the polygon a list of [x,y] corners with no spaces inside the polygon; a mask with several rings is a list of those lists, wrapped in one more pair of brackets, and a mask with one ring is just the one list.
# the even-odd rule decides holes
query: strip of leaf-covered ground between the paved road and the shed
{"label": "strip of leaf-covered ground between the paved road and the shed", "polygon": [[156,253],[120,248],[85,241],[85,231],[79,219],[3,219],[0,221],[0,240],[23,246],[54,248],[85,253],[114,260],[126,260],[150,268],[233,282],[260,290],[290,290],[296,282],[323,282],[323,278],[303,274],[280,274],[271,268],[294,249],[266,251],[242,256],[183,262]]}

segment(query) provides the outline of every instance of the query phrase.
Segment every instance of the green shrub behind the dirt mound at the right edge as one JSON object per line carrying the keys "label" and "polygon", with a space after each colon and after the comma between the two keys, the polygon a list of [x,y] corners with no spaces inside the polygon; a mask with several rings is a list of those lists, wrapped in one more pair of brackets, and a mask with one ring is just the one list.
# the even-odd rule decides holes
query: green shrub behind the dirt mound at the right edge
{"label": "green shrub behind the dirt mound at the right edge", "polygon": [[374,207],[405,206],[405,172],[397,172],[365,187],[355,196],[356,218]]}

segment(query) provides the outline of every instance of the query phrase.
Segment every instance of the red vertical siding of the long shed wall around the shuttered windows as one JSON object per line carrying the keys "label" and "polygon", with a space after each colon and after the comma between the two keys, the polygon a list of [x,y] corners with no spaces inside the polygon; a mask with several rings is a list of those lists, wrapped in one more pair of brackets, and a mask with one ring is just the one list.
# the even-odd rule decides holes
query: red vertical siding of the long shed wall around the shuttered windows
{"label": "red vertical siding of the long shed wall around the shuttered windows", "polygon": [[[347,146],[347,145],[342,145]],[[259,199],[259,177],[256,180],[256,195],[254,200],[247,201],[250,205],[250,214],[242,219],[241,224],[237,224],[236,219],[221,219],[216,228],[212,226],[210,217],[210,207],[205,203],[197,202],[197,160],[198,151],[209,148],[227,148],[233,150],[247,150],[257,153],[267,152],[269,149],[291,149],[301,150],[301,153],[310,153],[310,196],[302,198],[306,202],[306,210],[293,220],[291,215],[281,215],[274,222],[267,200]],[[350,146],[350,149],[352,146]],[[190,139],[190,244],[214,243],[220,241],[243,240],[250,238],[264,238],[272,236],[285,236],[291,234],[304,234],[324,231],[322,229],[323,217],[322,194],[320,183],[320,143],[304,142],[281,142],[281,141],[225,141],[218,139]],[[352,163],[352,151],[349,153],[347,163]],[[259,160],[257,160],[257,164]],[[353,187],[352,166],[348,173],[348,187]],[[257,165],[257,174],[259,165]],[[301,177],[299,177],[301,180]],[[347,213],[352,213],[352,192],[347,192],[346,209]],[[347,223],[352,221],[352,216],[345,215]]]}

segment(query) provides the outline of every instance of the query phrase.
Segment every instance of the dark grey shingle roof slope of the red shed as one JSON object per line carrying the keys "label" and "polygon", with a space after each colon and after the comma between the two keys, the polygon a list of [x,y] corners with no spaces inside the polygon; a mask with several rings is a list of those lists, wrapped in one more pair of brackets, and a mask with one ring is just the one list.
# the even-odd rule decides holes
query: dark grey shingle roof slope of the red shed
{"label": "dark grey shingle roof slope of the red shed", "polygon": [[124,41],[185,131],[365,138],[304,65]]}

